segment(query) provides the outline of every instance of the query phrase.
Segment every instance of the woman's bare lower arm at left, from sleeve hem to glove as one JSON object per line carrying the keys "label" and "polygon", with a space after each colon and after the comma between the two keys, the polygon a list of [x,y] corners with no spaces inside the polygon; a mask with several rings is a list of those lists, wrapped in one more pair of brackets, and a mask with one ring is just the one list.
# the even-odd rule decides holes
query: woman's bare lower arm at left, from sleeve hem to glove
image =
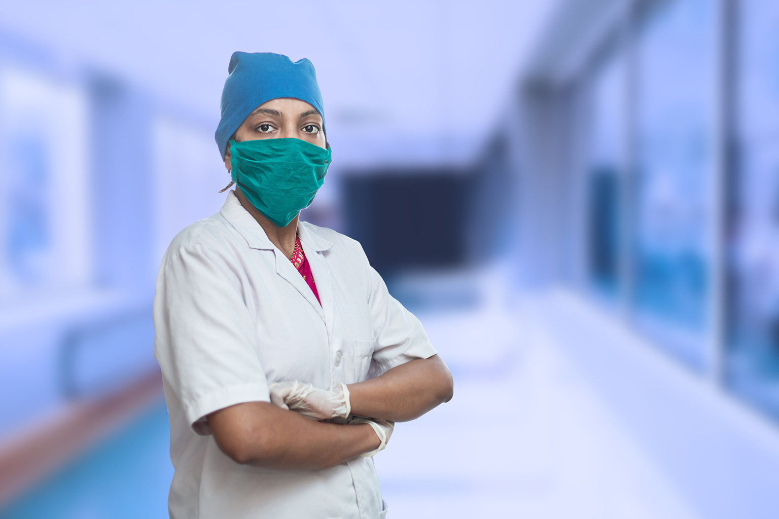
{"label": "woman's bare lower arm at left, from sleeve hem to glove", "polygon": [[212,412],[217,446],[241,465],[285,470],[333,467],[381,443],[367,423],[315,422],[270,402],[245,402]]}

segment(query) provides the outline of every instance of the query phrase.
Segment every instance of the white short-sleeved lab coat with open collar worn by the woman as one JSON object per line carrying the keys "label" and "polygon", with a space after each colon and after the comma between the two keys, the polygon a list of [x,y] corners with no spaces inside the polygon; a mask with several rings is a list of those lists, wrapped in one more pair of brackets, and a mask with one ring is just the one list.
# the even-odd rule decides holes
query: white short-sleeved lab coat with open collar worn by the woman
{"label": "white short-sleeved lab coat with open collar worn by the woman", "polygon": [[220,212],[167,249],[154,297],[154,356],[171,420],[174,519],[386,514],[372,458],[319,471],[238,465],[205,421],[229,405],[269,402],[270,382],[330,388],[435,355],[358,242],[310,223],[299,223],[298,234],[321,306],[233,191]]}

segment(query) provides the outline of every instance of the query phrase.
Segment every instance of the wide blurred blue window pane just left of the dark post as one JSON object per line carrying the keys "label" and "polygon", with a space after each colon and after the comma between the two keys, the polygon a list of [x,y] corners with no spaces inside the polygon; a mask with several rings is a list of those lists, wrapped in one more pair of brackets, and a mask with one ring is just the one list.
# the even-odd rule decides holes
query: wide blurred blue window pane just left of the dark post
{"label": "wide blurred blue window pane just left of the dark post", "polygon": [[710,293],[716,2],[663,2],[646,14],[639,87],[633,296],[640,324],[703,368]]}

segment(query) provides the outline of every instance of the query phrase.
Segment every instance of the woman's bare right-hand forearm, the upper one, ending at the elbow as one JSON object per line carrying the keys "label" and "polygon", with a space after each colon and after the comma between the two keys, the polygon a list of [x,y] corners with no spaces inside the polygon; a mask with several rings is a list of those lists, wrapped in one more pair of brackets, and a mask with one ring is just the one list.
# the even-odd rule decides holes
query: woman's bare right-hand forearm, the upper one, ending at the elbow
{"label": "woman's bare right-hand forearm, the upper one, ending at the elbow", "polygon": [[442,359],[435,355],[394,367],[380,377],[348,384],[351,412],[407,422],[430,411],[453,394],[453,380]]}

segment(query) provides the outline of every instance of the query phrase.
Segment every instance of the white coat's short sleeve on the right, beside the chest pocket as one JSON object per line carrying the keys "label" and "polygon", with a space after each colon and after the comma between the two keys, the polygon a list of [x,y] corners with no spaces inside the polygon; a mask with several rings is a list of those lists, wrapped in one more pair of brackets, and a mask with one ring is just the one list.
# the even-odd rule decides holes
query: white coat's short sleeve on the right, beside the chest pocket
{"label": "white coat's short sleeve on the right, beside the chest pocket", "polygon": [[370,266],[368,282],[368,305],[376,340],[368,377],[378,377],[410,360],[434,356],[437,352],[419,319],[390,296],[382,276]]}

